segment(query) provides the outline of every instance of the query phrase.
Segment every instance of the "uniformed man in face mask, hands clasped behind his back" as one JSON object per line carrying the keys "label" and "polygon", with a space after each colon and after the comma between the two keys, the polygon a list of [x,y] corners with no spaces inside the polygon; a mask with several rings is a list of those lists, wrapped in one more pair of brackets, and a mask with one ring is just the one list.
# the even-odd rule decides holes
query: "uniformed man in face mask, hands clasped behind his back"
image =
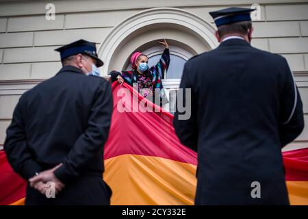
{"label": "uniformed man in face mask, hands clasped behind his back", "polygon": [[5,153],[29,180],[26,205],[109,205],[111,190],[102,177],[112,91],[108,81],[93,76],[103,62],[86,40],[56,51],[63,68],[21,96]]}

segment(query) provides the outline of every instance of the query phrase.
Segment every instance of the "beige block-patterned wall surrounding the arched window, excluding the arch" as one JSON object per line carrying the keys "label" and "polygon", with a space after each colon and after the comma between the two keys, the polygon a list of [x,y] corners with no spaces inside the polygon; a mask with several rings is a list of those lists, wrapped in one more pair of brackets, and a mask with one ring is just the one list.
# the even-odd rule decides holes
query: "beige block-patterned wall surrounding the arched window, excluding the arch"
{"label": "beige block-patterned wall surrounding the arched window, excluding the arch", "polygon": [[[47,3],[55,4],[55,21],[45,19]],[[80,38],[98,42],[97,46],[101,47],[114,27],[151,8],[181,9],[198,16],[214,28],[209,11],[231,5],[250,7],[252,3],[261,5],[261,19],[253,22],[253,46],[287,58],[304,102],[305,121],[308,124],[307,1],[11,1],[0,2],[0,149],[19,96],[60,69],[59,55],[53,51],[56,47]],[[177,35],[175,31],[172,35],[172,30],[167,31],[166,27],[161,30],[159,26],[157,28],[157,36],[159,31],[161,36],[166,34],[166,38]],[[151,38],[145,34],[143,40],[148,37]],[[183,35],[182,40],[198,47],[197,42],[190,42],[190,36]],[[286,149],[306,146],[308,127]]]}

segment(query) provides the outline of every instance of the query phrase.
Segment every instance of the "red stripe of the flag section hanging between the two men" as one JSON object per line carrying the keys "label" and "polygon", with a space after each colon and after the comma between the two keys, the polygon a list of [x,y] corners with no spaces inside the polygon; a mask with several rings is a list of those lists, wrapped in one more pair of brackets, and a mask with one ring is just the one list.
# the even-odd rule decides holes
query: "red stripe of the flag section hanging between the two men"
{"label": "red stripe of the flag section hanging between the two men", "polygon": [[[122,90],[125,94],[124,97],[117,96],[118,92],[121,92],[120,89],[124,89]],[[114,82],[112,94],[114,96],[114,112],[110,137],[105,144],[104,159],[133,154],[163,157],[196,165],[196,153],[183,146],[175,134],[172,114],[144,99],[126,83],[120,86],[117,81]],[[133,99],[133,94],[136,96],[135,99]],[[120,104],[123,103],[120,102],[123,100],[125,100],[125,104]],[[153,107],[154,112],[136,112],[140,110],[138,109],[140,101]],[[119,112],[117,110],[118,103],[125,105],[125,108],[131,112]]]}

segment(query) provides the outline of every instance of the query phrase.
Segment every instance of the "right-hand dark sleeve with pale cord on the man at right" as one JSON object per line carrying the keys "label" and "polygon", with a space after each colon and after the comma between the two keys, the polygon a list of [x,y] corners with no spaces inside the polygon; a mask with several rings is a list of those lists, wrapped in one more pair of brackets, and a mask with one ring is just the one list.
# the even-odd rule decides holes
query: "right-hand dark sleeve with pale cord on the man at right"
{"label": "right-hand dark sleeve with pale cord on the man at right", "polygon": [[279,134],[281,146],[292,142],[304,129],[303,103],[287,61],[281,95]]}

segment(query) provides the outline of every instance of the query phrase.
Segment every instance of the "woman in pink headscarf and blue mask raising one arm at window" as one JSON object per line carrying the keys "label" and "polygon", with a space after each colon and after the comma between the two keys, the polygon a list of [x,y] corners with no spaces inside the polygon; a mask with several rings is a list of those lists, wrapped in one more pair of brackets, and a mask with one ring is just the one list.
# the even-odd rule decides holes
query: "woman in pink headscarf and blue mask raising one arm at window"
{"label": "woman in pink headscarf and blue mask raising one arm at window", "polygon": [[[149,68],[148,57],[140,52],[136,52],[133,53],[130,58],[132,70],[122,71],[121,73],[113,70],[110,75],[112,82],[118,81],[121,85],[123,82],[128,83],[130,86],[135,84],[138,85],[138,92],[153,102],[155,100],[155,96],[159,95],[159,104],[162,105],[168,103],[168,99],[162,85],[162,79],[164,78],[164,72],[168,69],[170,63],[170,54],[169,45],[166,40],[164,40],[164,42],[158,42],[163,44],[165,49],[162,57],[159,62],[155,64],[155,66]],[[159,88],[159,92],[157,88]]]}

